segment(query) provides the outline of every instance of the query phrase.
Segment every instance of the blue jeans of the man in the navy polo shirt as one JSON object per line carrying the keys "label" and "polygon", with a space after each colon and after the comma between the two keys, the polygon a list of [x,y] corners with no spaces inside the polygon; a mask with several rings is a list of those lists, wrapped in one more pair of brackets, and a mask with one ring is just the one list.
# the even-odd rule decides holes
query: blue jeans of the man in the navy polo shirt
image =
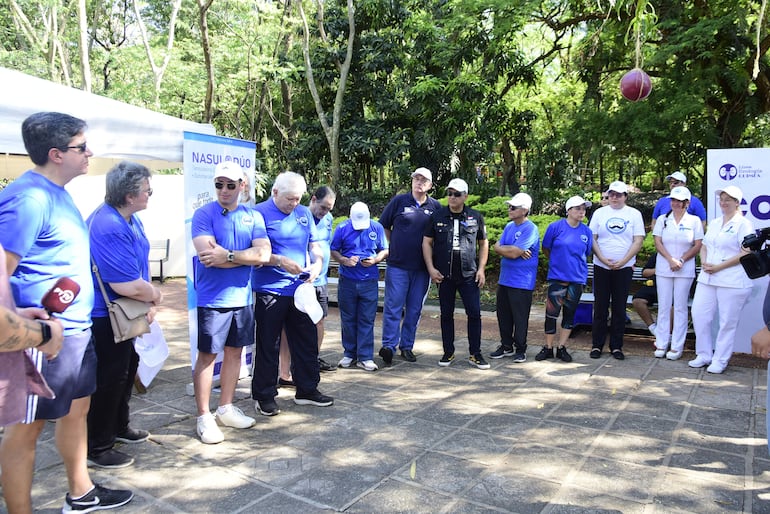
{"label": "blue jeans of the man in the navy polo shirt", "polygon": [[[395,350],[414,348],[422,305],[428,296],[430,275],[388,266],[385,272],[385,306],[382,312],[382,346]],[[403,314],[404,322],[401,323]]]}

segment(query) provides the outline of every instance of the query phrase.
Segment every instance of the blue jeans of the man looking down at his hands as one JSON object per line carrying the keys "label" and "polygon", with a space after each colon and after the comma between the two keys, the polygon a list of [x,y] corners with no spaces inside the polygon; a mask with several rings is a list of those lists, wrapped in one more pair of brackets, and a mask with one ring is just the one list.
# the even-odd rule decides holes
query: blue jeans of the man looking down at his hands
{"label": "blue jeans of the man looking down at his hands", "polygon": [[342,348],[345,357],[357,361],[374,356],[374,318],[377,316],[377,280],[351,280],[340,277],[337,300],[342,322]]}

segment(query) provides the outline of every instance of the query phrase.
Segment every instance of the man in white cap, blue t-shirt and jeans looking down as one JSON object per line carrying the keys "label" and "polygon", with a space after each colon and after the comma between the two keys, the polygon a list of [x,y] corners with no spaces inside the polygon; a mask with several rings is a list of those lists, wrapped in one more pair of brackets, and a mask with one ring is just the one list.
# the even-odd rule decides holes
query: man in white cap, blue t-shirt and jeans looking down
{"label": "man in white cap, blue t-shirt and jeans looking down", "polygon": [[388,239],[382,225],[371,219],[365,203],[354,203],[350,218],[334,230],[331,256],[340,263],[337,299],[344,355],[339,366],[349,368],[355,362],[359,368],[376,371],[374,318],[380,279],[377,264],[388,257]]}

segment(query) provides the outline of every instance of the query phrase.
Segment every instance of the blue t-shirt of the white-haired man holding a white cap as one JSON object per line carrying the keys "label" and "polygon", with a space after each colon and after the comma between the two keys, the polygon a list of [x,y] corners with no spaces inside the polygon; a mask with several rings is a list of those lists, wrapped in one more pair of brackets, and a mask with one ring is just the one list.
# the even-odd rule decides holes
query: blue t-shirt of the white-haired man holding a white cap
{"label": "blue t-shirt of the white-haired man holding a white cap", "polygon": [[[310,209],[297,205],[289,214],[284,214],[272,197],[258,203],[254,209],[265,219],[273,253],[309,266],[310,243],[318,242],[318,230]],[[294,296],[294,290],[301,283],[297,275],[278,266],[262,266],[255,268],[252,273],[252,288],[259,293]]]}

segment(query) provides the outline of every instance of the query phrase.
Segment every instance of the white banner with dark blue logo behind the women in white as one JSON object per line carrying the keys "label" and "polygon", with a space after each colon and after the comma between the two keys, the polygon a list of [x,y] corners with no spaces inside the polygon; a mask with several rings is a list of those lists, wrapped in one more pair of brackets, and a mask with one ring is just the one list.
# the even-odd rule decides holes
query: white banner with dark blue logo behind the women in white
{"label": "white banner with dark blue logo behind the women in white", "polygon": [[[727,186],[738,186],[743,192],[741,211],[755,229],[770,225],[770,148],[734,148],[708,150],[708,220],[722,215],[717,191]],[[704,202],[705,203],[705,202]],[[751,296],[741,311],[735,334],[736,352],[751,353],[751,335],[762,328],[762,304],[767,291],[768,277],[754,280]]]}

